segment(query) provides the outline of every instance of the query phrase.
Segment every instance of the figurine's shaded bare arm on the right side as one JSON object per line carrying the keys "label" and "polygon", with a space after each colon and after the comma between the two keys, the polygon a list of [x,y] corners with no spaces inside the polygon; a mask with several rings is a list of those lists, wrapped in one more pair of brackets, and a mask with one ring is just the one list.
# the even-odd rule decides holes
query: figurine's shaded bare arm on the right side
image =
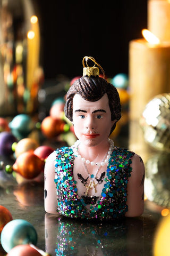
{"label": "figurine's shaded bare arm on the right side", "polygon": [[128,181],[128,196],[127,202],[128,212],[126,217],[137,217],[144,210],[144,180],[145,166],[140,156],[134,155],[131,163],[131,177]]}

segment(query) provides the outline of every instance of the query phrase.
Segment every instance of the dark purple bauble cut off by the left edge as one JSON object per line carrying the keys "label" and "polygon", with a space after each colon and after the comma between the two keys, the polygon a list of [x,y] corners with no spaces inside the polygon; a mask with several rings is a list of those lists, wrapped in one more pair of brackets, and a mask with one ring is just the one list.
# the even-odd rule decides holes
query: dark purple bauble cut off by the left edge
{"label": "dark purple bauble cut off by the left edge", "polygon": [[1,132],[0,133],[0,155],[10,156],[13,154],[12,144],[16,142],[17,139],[11,132]]}

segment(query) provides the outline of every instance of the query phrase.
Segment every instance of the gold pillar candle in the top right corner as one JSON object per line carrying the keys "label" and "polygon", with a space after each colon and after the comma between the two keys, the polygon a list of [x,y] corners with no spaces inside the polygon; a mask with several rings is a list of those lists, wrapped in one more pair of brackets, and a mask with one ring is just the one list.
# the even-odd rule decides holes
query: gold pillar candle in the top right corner
{"label": "gold pillar candle in the top right corner", "polygon": [[148,29],[160,41],[170,41],[170,0],[148,1]]}

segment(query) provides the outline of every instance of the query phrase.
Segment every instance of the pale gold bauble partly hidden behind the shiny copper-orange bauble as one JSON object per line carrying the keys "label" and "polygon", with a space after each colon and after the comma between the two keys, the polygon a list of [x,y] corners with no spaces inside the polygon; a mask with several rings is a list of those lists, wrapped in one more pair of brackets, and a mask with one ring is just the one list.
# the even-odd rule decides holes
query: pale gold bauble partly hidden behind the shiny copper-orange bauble
{"label": "pale gold bauble partly hidden behind the shiny copper-orange bauble", "polygon": [[39,147],[39,144],[36,140],[31,139],[31,138],[24,138],[16,144],[15,156],[19,157],[22,153],[29,151],[29,150],[33,151],[37,147]]}

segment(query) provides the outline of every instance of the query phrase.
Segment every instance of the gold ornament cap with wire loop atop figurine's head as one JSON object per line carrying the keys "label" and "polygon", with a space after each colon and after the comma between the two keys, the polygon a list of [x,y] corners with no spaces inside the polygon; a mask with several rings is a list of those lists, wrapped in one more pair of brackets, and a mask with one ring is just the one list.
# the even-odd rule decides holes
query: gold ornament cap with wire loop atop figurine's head
{"label": "gold ornament cap with wire loop atop figurine's head", "polygon": [[[92,60],[94,63],[95,63],[95,65],[93,66],[93,67],[89,67],[88,66],[88,60]],[[84,63],[84,61],[86,61],[86,66],[85,66],[85,63]],[[93,58],[93,57],[88,57],[88,56],[85,56],[84,58],[83,58],[83,76],[88,76],[88,77],[90,77],[90,76],[99,76],[99,68],[101,69],[101,71],[103,72],[103,78],[105,79],[105,71],[103,70],[103,68],[101,68],[101,66],[97,63],[97,61]],[[98,67],[96,67],[96,65],[98,66]]]}

